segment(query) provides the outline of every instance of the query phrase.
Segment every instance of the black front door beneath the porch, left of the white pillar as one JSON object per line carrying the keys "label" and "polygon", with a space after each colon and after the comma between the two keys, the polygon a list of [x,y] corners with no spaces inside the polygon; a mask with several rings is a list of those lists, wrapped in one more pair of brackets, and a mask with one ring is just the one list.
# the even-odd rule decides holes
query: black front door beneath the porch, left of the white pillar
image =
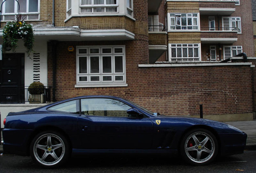
{"label": "black front door beneath the porch, left of the white pillar", "polygon": [[25,103],[24,54],[3,54],[0,61],[0,103]]}

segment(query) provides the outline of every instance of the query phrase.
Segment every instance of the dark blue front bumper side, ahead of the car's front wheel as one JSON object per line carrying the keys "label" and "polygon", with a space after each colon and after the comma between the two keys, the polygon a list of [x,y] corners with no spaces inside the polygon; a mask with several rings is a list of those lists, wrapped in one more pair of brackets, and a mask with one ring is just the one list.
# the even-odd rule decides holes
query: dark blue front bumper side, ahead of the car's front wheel
{"label": "dark blue front bumper side, ahead of the car's front wheel", "polygon": [[221,155],[234,155],[244,153],[246,147],[246,133],[219,134]]}

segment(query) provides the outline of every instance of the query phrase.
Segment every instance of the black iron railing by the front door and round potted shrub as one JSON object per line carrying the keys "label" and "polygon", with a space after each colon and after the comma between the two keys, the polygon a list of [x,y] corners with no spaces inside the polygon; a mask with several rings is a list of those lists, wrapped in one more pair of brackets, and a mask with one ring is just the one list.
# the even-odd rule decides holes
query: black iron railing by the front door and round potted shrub
{"label": "black iron railing by the front door and round potted shrub", "polygon": [[30,95],[28,87],[20,86],[2,86],[0,88],[0,103],[1,104],[24,104],[29,103],[50,103],[51,87],[44,87],[44,92],[41,95]]}

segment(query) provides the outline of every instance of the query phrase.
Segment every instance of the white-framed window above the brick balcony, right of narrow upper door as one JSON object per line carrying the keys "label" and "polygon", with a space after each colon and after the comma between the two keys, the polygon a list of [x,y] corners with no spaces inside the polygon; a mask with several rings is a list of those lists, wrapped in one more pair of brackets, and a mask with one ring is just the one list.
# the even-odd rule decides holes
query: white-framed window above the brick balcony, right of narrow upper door
{"label": "white-framed window above the brick balcony, right of narrow upper door", "polygon": [[[229,28],[224,27],[224,18],[228,19],[225,20],[226,22],[229,22]],[[233,27],[233,24],[235,24],[235,27]],[[227,24],[226,24],[227,25]],[[235,28],[238,28],[237,34],[242,34],[242,24],[241,24],[241,17],[222,17],[222,30],[234,30]]]}

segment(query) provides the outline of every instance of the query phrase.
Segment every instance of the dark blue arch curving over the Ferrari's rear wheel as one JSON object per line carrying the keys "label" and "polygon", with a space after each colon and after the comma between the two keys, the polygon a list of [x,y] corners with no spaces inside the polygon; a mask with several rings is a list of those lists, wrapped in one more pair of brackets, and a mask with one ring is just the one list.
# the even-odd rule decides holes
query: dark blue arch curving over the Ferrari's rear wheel
{"label": "dark blue arch curving over the Ferrari's rear wheel", "polygon": [[71,142],[70,138],[68,137],[67,133],[64,130],[62,130],[59,127],[55,127],[55,126],[41,126],[41,127],[38,127],[37,129],[35,129],[35,131],[33,131],[33,133],[29,137],[29,141],[28,141],[28,145],[27,145],[28,155],[31,154],[30,153],[30,144],[31,144],[32,140],[34,139],[34,137],[38,133],[41,133],[43,131],[56,131],[56,132],[61,133],[62,135],[64,135],[66,137],[66,139],[68,140],[68,143],[70,145],[70,151],[72,151],[72,142]]}

